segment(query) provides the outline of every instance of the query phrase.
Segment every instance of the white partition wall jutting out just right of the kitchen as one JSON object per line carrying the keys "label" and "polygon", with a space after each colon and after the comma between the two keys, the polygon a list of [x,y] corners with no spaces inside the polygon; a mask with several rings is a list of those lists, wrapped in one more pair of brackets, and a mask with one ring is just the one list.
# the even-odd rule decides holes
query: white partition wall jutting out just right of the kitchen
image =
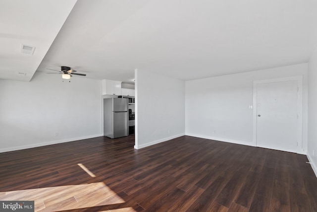
{"label": "white partition wall jutting out just right of the kitchen", "polygon": [[148,71],[135,71],[135,148],[185,133],[185,82]]}

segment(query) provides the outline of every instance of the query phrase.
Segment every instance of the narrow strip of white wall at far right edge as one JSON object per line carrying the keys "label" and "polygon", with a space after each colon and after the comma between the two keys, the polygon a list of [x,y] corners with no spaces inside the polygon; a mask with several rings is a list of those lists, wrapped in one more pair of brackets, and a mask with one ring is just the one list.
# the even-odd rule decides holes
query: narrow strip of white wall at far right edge
{"label": "narrow strip of white wall at far right edge", "polygon": [[308,152],[317,176],[317,45],[308,65]]}

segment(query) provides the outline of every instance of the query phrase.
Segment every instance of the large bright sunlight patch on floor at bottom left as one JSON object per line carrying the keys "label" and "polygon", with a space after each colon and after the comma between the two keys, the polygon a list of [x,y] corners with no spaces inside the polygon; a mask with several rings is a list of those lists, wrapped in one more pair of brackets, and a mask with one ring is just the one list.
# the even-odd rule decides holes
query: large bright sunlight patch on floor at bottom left
{"label": "large bright sunlight patch on floor at bottom left", "polygon": [[[0,200],[35,201],[36,212],[73,210],[124,203],[124,200],[103,182],[9,191],[0,196]],[[125,209],[120,210],[128,212]]]}

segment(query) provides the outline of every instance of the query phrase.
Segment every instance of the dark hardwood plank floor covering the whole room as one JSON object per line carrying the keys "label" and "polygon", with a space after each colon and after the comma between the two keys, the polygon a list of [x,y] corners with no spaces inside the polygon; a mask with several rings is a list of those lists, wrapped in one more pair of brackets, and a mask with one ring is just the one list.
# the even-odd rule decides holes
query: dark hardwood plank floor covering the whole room
{"label": "dark hardwood plank floor covering the whole room", "polygon": [[99,137],[0,153],[0,200],[49,212],[317,212],[306,155],[189,136],[133,145]]}

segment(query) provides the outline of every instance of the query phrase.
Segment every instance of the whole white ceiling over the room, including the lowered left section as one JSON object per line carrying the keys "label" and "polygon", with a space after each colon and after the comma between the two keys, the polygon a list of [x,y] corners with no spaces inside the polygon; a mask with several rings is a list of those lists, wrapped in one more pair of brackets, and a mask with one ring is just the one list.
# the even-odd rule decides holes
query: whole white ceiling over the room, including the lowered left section
{"label": "whole white ceiling over the room, including the lowered left section", "polygon": [[[18,3],[13,7],[12,1]],[[29,44],[42,56],[49,42],[40,42],[52,40],[74,1],[2,2],[10,7],[0,6],[1,20],[9,20],[0,22],[6,26],[0,27],[0,42],[19,47],[27,34],[12,28],[27,23],[37,32]],[[40,14],[26,14],[23,2],[33,2]],[[88,78],[133,83],[134,69],[189,80],[305,63],[316,14],[316,0],[78,0],[43,60],[26,66],[30,56],[11,54],[5,45],[0,78],[69,66]]]}

